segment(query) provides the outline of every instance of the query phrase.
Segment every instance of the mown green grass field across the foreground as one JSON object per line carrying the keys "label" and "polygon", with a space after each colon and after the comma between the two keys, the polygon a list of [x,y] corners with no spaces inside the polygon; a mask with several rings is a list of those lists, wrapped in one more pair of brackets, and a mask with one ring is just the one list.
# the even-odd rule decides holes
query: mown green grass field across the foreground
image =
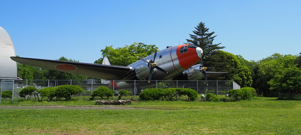
{"label": "mown green grass field across the foreground", "polygon": [[[20,101],[3,105],[94,105]],[[0,109],[0,134],[301,134],[301,102],[257,97],[240,102],[133,102],[179,110]]]}

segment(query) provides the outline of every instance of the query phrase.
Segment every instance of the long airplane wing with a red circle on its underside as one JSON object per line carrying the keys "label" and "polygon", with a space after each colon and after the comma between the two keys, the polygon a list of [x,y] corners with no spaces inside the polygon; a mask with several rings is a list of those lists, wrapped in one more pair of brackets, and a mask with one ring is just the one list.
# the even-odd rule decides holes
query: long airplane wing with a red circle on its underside
{"label": "long airplane wing with a red circle on its underside", "polygon": [[61,60],[44,60],[24,57],[11,57],[11,59],[25,65],[85,75],[105,80],[122,80],[124,76],[132,71],[132,67],[128,66],[79,63]]}

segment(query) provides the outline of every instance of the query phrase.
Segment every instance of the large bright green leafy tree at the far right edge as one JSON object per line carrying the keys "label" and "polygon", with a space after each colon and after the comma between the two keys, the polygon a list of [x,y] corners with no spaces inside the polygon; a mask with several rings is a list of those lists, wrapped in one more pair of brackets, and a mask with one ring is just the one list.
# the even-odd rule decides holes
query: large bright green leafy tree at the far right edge
{"label": "large bright green leafy tree at the far right edge", "polygon": [[299,56],[273,54],[260,60],[258,69],[259,93],[271,96],[278,92],[299,94],[301,92],[301,70],[298,68]]}

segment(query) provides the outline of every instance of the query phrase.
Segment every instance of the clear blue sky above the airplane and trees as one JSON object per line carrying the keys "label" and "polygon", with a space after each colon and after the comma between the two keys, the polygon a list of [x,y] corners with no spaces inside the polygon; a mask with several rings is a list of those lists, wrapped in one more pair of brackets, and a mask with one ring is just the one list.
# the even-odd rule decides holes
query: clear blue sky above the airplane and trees
{"label": "clear blue sky above the airplane and trees", "polygon": [[201,21],[223,51],[261,60],[301,52],[301,1],[1,0],[0,26],[20,57],[93,63],[101,49],[185,43]]}

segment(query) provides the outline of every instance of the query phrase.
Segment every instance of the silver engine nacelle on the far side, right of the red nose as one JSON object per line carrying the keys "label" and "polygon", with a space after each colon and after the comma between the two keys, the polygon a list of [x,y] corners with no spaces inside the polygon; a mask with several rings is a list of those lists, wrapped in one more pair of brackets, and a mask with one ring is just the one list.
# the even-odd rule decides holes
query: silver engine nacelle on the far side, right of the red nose
{"label": "silver engine nacelle on the far side, right of the red nose", "polygon": [[194,65],[191,68],[185,70],[183,74],[187,75],[188,80],[200,80],[204,75],[202,73],[202,70],[197,71],[196,69],[203,69],[203,66],[201,66],[201,64]]}

